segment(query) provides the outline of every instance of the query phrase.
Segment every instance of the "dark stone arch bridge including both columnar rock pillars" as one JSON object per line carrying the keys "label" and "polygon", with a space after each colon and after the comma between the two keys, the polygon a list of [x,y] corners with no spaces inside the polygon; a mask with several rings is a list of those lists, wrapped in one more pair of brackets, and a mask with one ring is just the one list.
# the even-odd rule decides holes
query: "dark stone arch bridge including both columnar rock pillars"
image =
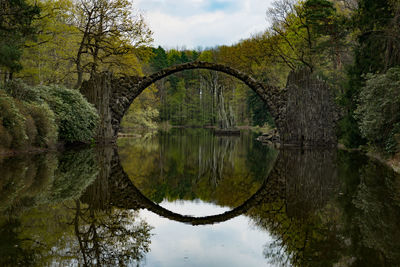
{"label": "dark stone arch bridge including both columnar rock pillars", "polygon": [[91,76],[81,92],[100,115],[97,141],[115,141],[120,123],[129,106],[147,87],[171,74],[192,69],[208,69],[231,75],[250,87],[266,104],[274,118],[282,145],[336,146],[337,112],[329,86],[305,70],[292,72],[285,88],[258,82],[232,67],[189,62],[168,67],[148,76],[114,77],[111,73]]}

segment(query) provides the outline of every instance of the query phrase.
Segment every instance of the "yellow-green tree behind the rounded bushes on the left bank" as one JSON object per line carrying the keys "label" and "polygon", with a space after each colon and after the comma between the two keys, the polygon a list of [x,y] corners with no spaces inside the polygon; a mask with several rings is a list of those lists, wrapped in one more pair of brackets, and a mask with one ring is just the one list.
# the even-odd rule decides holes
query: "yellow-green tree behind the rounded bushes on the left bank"
{"label": "yellow-green tree behind the rounded bushes on the left bank", "polygon": [[29,84],[63,84],[72,88],[75,68],[71,58],[80,40],[71,15],[72,0],[36,1],[41,10],[40,19],[33,23],[38,34],[35,40],[25,43],[23,69],[18,77]]}

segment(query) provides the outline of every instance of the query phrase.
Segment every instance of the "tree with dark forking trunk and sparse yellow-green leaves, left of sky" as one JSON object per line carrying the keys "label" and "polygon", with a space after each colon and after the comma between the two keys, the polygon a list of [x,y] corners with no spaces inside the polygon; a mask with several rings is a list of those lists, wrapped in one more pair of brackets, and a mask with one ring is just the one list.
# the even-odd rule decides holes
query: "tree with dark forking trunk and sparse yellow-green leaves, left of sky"
{"label": "tree with dark forking trunk and sparse yellow-green leaves, left of sky", "polygon": [[128,0],[80,0],[75,2],[75,25],[82,34],[74,58],[78,79],[83,74],[96,72],[102,65],[110,69],[121,64],[112,56],[133,53],[152,41],[151,34],[141,15],[132,12]]}

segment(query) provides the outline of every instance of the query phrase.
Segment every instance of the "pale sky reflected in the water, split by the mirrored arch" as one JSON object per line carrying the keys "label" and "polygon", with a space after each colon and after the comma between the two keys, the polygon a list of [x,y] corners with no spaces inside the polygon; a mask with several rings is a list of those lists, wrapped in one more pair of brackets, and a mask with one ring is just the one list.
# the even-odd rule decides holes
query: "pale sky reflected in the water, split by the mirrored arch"
{"label": "pale sky reflected in the water, split by the mirrored arch", "polygon": [[[202,201],[163,202],[171,211],[193,216],[219,214],[227,208]],[[191,226],[147,210],[141,217],[154,227],[144,266],[268,266],[263,247],[271,236],[251,226],[245,216],[227,222]]]}

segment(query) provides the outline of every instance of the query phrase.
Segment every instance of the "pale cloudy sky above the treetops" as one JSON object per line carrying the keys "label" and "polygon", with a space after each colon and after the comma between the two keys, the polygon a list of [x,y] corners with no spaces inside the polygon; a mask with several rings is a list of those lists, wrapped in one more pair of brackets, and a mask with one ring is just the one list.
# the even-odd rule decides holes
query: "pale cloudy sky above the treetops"
{"label": "pale cloudy sky above the treetops", "polygon": [[232,45],[268,26],[273,0],[133,0],[153,31],[154,46]]}

